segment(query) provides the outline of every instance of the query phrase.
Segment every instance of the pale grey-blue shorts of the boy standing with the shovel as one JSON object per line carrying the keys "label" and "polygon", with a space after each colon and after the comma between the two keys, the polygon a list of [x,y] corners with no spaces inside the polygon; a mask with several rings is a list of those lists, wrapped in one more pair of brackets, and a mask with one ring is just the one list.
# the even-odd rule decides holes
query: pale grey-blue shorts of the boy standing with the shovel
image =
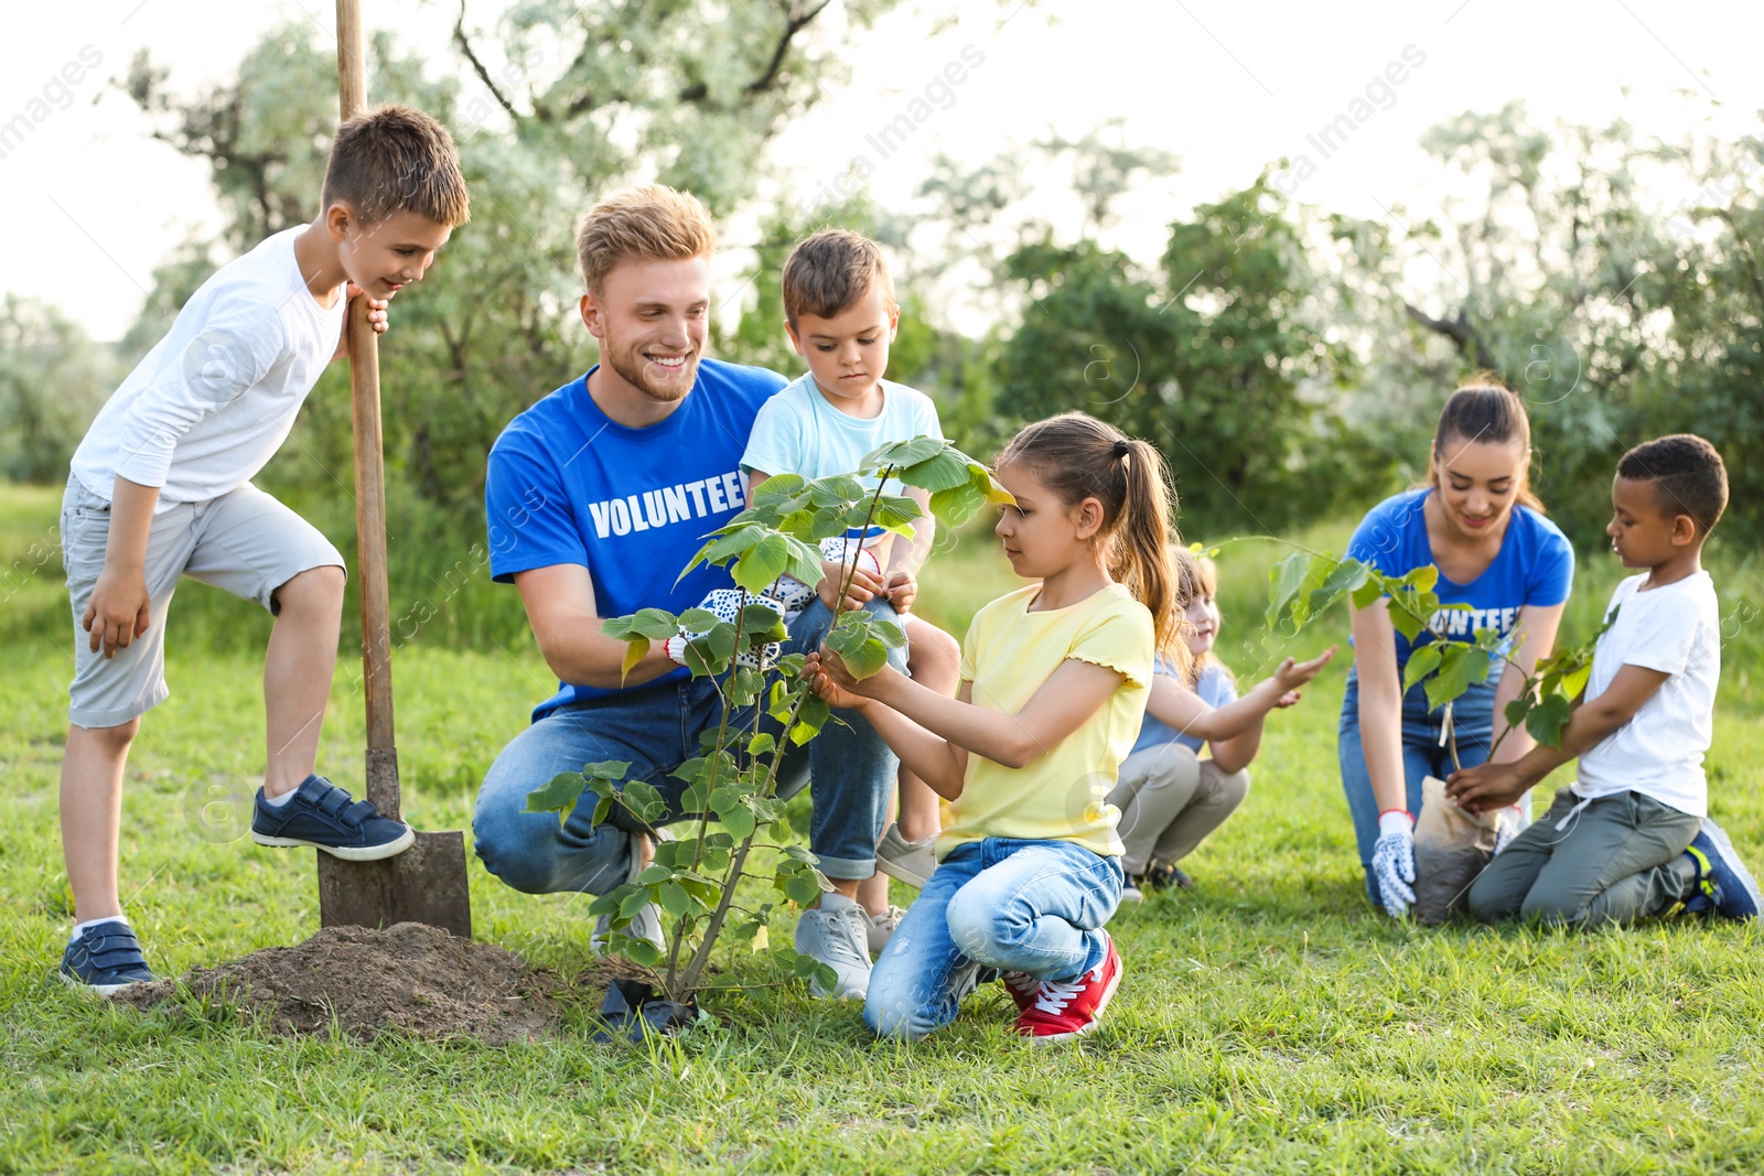
{"label": "pale grey-blue shorts of the boy standing with the shovel", "polygon": [[166,688],[166,608],[180,577],[226,589],[275,612],[275,589],[310,568],[344,568],[318,527],[249,481],[206,502],[178,502],[153,515],[146,534],[146,633],[106,658],[92,652],[79,621],[104,569],[111,506],[78,478],[62,499],[62,562],[74,608],[74,682],[67,718],[74,726],[120,726],[162,703]]}

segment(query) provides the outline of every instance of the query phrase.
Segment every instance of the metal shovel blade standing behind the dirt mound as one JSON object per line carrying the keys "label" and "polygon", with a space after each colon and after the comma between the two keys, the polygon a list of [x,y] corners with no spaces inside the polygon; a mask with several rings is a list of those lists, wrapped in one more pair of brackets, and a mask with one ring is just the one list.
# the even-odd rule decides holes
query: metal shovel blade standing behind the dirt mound
{"label": "metal shovel blade standing behind the dirt mound", "polygon": [[471,938],[466,834],[418,832],[404,853],[344,862],[319,852],[319,926],[390,927],[422,922]]}

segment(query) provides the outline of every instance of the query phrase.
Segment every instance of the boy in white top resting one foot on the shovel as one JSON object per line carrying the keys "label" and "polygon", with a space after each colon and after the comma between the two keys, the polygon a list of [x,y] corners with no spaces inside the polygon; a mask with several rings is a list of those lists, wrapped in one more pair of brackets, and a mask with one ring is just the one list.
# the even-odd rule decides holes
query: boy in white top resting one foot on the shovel
{"label": "boy in white top resting one foot on the shovel", "polygon": [[346,353],[353,298],[386,330],[386,300],[422,280],[467,219],[453,139],[400,106],[337,130],[312,224],[268,238],[191,296],[74,451],[62,554],[74,681],[62,758],[62,850],[74,931],[60,979],[97,993],[152,980],[116,887],[122,781],[141,714],[166,700],[166,608],[182,577],[275,617],[263,666],[268,763],[250,832],[348,860],[415,834],[314,776],[337,665],[344,561],[250,485],[325,367]]}

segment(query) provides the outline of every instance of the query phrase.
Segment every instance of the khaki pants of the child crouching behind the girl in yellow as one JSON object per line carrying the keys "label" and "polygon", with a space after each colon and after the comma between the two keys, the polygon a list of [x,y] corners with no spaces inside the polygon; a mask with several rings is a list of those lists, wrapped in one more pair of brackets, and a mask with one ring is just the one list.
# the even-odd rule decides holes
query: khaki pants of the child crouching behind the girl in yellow
{"label": "khaki pants of the child crouching behind the girl in yellow", "polygon": [[1187,746],[1168,742],[1136,751],[1120,765],[1108,802],[1120,809],[1120,859],[1127,876],[1159,862],[1178,862],[1224,823],[1249,795],[1249,769],[1221,772]]}

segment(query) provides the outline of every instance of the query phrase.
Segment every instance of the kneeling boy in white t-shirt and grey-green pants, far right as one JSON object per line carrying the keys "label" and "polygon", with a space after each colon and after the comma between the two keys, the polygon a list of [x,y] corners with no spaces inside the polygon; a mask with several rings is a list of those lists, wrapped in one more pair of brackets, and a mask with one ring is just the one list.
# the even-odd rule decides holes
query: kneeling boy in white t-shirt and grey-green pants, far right
{"label": "kneeling boy in white t-shirt and grey-green pants, far right", "polygon": [[1727,469],[1702,437],[1676,434],[1623,455],[1605,532],[1625,568],[1611,594],[1586,693],[1561,732],[1512,763],[1454,772],[1468,809],[1512,804],[1581,756],[1579,778],[1482,871],[1469,910],[1582,926],[1692,912],[1755,919],[1759,889],[1708,820],[1702,756],[1722,674],[1720,605],[1702,543],[1727,506]]}

